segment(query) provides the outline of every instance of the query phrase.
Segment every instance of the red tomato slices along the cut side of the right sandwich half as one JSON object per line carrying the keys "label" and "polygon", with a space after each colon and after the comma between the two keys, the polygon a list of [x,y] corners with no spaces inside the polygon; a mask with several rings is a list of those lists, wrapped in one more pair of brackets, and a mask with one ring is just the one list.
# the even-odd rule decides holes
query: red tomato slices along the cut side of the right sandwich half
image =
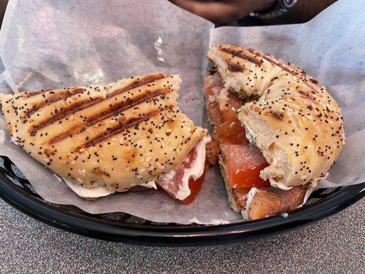
{"label": "red tomato slices along the cut side of the right sandwich half", "polygon": [[[214,138],[220,144],[221,157],[227,163],[227,181],[235,190],[268,186],[260,171],[268,166],[261,151],[251,145],[247,132],[240,124],[237,111],[244,99],[223,87],[218,73],[205,78],[205,96]],[[223,96],[222,96],[223,94]]]}

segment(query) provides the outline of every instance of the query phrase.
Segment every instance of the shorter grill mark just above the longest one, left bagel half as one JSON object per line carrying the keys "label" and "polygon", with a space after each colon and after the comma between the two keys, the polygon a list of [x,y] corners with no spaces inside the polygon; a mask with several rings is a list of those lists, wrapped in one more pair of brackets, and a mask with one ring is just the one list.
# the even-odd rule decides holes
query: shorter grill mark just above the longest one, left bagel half
{"label": "shorter grill mark just above the longest one, left bagel half", "polygon": [[103,99],[105,99],[105,98],[95,97],[95,98],[92,98],[91,101],[86,100],[86,101],[74,103],[73,105],[71,105],[70,108],[66,108],[66,109],[62,110],[61,112],[58,112],[57,114],[41,121],[40,123],[38,123],[38,125],[33,125],[33,127],[31,127],[31,129],[29,129],[30,135],[36,136],[37,130],[47,127],[48,125],[51,125],[51,124],[55,123],[56,121],[60,121],[61,119],[64,119],[67,116],[70,116],[71,114],[74,114],[75,112],[79,112],[80,110],[90,108],[92,105],[95,105],[95,104],[99,103],[100,101],[103,101]]}

